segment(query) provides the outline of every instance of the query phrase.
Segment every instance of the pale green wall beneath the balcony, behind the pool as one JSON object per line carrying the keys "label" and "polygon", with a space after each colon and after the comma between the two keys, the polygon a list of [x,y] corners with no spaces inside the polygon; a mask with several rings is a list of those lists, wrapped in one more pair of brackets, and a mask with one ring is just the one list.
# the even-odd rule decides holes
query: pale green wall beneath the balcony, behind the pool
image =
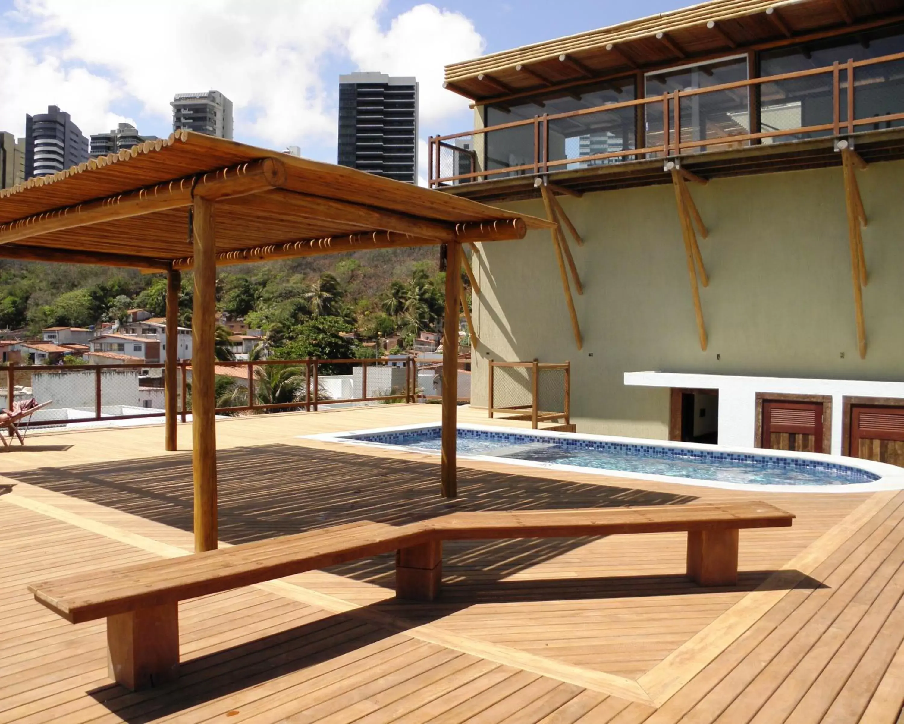
{"label": "pale green wall beneath the balcony, behind the pool", "polygon": [[[858,172],[869,227],[863,293],[868,352],[857,353],[840,168],[691,184],[710,230],[701,288],[709,347],[697,339],[671,185],[560,197],[586,244],[571,249],[584,295],[571,334],[550,235],[481,245],[474,404],[486,404],[486,358],[572,364],[579,430],[668,435],[669,392],[626,387],[626,371],[839,380],[904,376],[904,162]],[[544,216],[539,201],[507,208]],[[721,400],[724,414],[725,400]]]}

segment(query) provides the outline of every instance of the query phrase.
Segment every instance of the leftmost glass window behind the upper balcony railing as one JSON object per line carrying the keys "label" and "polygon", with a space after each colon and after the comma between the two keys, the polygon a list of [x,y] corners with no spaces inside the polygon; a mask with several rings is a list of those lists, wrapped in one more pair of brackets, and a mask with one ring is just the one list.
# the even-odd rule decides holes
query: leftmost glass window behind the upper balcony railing
{"label": "leftmost glass window behind the upper balcony railing", "polygon": [[[623,103],[636,98],[633,78],[607,80],[605,83],[580,86],[554,91],[551,96],[524,100],[513,106],[487,106],[485,122],[487,126],[498,126],[519,120],[529,120],[534,116],[556,116],[585,108],[598,108],[613,103]],[[600,110],[566,118],[549,120],[549,160],[567,162],[589,155],[605,155],[617,151],[634,149],[636,129],[636,108]],[[484,135],[485,168],[510,168],[531,165],[534,160],[533,124],[489,131]],[[541,138],[542,146],[542,138]],[[537,151],[537,160],[542,161],[542,149]],[[595,159],[585,163],[560,163],[551,169],[580,168],[587,165],[605,163],[607,159]],[[616,158],[615,160],[625,160]],[[489,178],[507,175],[532,174],[533,169],[523,169],[508,174],[493,174]]]}

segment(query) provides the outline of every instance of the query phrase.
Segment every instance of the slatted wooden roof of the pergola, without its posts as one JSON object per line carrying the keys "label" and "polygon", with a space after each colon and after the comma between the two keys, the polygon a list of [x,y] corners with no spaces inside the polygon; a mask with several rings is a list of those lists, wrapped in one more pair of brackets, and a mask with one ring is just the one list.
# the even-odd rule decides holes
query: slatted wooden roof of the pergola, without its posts
{"label": "slatted wooden roof of the pergola, without its posts", "polygon": [[[91,254],[106,254],[108,259],[127,255],[167,263],[181,259],[187,267],[193,250],[188,212],[192,194],[210,180],[234,183],[236,174],[255,165],[259,169],[261,163],[269,164],[271,171],[277,167],[281,174],[272,188],[217,197],[218,253],[242,257],[249,249],[281,248],[302,240],[316,240],[323,247],[325,240],[346,235],[367,239],[373,232],[382,232],[384,246],[441,243],[447,239],[438,236],[454,237],[457,225],[468,222],[471,227],[485,221],[507,221],[510,226],[516,222],[528,229],[549,225],[344,166],[180,131],[0,192],[0,258],[46,254],[47,260],[64,261],[63,253],[80,253],[85,263],[92,263]],[[149,212],[146,204],[160,199],[165,203]],[[125,218],[105,213],[127,200],[145,206]],[[86,209],[93,214],[89,221],[73,224],[76,216],[87,216]],[[67,228],[54,230],[52,224],[61,220]],[[61,252],[57,259],[54,250]]]}

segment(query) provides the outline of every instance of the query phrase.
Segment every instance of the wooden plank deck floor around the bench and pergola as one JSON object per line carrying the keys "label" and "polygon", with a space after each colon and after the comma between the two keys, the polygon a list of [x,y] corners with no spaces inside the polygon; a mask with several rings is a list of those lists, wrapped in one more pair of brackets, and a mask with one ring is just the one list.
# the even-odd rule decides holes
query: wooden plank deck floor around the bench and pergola
{"label": "wooden plank deck floor around the bench and pergola", "polygon": [[[450,510],[751,497],[462,461],[447,502],[433,456],[297,439],[438,416],[381,405],[219,422],[222,544]],[[104,623],[70,625],[25,585],[192,550],[190,428],[177,453],[163,434],[46,434],[0,454],[0,724],[901,716],[904,493],[758,494],[797,519],[742,531],[738,588],[692,585],[684,536],[657,534],[449,543],[432,604],[396,601],[388,556],[194,599],[182,678],[126,691],[107,678]]]}

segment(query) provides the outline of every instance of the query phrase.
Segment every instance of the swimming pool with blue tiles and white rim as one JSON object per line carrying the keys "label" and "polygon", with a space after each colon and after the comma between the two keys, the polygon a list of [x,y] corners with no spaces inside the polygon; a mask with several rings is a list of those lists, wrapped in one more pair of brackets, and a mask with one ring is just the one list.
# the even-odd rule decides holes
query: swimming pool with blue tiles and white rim
{"label": "swimming pool with blue tiles and white rim", "polygon": [[[310,436],[438,454],[439,424]],[[459,425],[464,458],[745,490],[867,492],[904,487],[904,469],[850,457],[630,437]]]}

